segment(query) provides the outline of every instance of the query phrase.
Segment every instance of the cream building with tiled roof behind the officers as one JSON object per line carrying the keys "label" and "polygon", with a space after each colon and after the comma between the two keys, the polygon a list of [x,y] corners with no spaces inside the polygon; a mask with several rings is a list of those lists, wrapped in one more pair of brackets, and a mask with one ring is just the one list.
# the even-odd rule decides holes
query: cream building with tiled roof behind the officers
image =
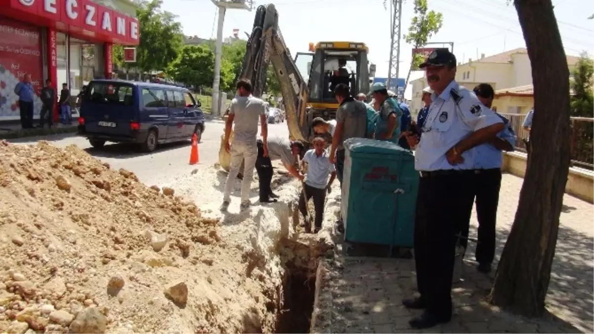
{"label": "cream building with tiled roof behind the officers", "polygon": [[[579,57],[567,56],[570,71],[575,68]],[[493,106],[502,114],[526,114],[534,104],[532,88],[532,67],[526,48],[513,49],[497,55],[481,55],[480,59],[468,59],[458,64],[456,81],[468,89],[479,83],[488,83],[495,90]],[[422,108],[421,90],[427,86],[425,77],[411,81],[412,108]]]}

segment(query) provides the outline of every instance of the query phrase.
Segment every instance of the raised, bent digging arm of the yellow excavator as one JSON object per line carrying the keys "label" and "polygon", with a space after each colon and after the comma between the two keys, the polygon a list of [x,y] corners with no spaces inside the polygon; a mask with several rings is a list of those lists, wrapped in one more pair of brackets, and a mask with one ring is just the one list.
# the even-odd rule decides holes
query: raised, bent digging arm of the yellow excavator
{"label": "raised, bent digging arm of the yellow excavator", "polygon": [[240,77],[248,78],[252,82],[252,94],[261,97],[266,89],[266,74],[271,62],[280,83],[290,138],[307,141],[311,131],[306,109],[308,87],[290,56],[278,22],[279,13],[273,4],[258,7]]}

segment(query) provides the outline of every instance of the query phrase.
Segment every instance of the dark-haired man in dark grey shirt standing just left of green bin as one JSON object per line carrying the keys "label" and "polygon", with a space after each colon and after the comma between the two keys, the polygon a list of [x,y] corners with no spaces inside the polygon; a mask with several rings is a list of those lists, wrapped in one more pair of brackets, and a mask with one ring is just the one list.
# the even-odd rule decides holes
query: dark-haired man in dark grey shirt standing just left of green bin
{"label": "dark-haired man in dark grey shirt standing just left of green bin", "polygon": [[330,162],[336,166],[336,175],[342,186],[342,174],[345,168],[345,147],[342,144],[349,138],[366,137],[367,107],[365,103],[350,96],[349,86],[346,84],[337,85],[334,96],[340,106],[336,111],[336,129],[332,136]]}

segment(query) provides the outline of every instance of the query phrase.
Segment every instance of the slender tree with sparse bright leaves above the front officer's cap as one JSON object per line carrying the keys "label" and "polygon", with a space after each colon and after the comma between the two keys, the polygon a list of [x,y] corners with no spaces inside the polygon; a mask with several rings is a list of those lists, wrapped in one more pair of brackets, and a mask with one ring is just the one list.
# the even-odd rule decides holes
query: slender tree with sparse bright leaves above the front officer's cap
{"label": "slender tree with sparse bright leaves above the front officer's cap", "polygon": [[[443,24],[443,15],[440,12],[430,11],[427,6],[427,0],[415,0],[414,16],[410,21],[408,33],[404,39],[406,43],[412,44],[413,48],[422,48],[429,38],[441,29]],[[409,73],[406,75],[405,87],[408,85],[410,72],[419,68],[424,61],[421,55],[415,55],[410,64]]]}

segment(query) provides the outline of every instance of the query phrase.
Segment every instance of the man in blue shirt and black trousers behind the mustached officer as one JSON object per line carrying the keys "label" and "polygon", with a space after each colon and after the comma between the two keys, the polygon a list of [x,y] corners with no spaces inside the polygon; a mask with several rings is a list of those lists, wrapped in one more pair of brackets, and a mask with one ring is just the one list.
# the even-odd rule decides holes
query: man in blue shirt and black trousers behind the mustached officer
{"label": "man in blue shirt and black trousers behind the mustached officer", "polygon": [[[490,84],[479,84],[475,87],[476,97],[487,108],[491,108],[495,92]],[[479,263],[479,272],[491,271],[491,264],[495,258],[495,224],[497,222],[497,205],[501,188],[501,151],[513,151],[516,144],[516,134],[510,122],[504,116],[498,115],[505,124],[503,131],[492,138],[491,141],[473,149],[475,154],[475,177],[472,184],[473,200],[476,198],[476,216],[479,222],[478,244],[476,245],[475,258]],[[468,237],[470,214],[467,225],[462,231],[463,237]],[[467,240],[461,244],[466,247]]]}

